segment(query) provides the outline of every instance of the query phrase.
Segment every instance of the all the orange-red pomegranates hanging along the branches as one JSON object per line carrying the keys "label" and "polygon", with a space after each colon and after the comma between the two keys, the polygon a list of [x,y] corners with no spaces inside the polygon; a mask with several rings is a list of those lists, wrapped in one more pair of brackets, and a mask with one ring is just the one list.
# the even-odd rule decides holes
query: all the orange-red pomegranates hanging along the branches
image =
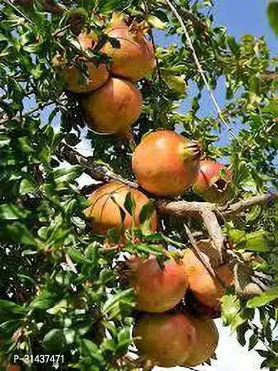
{"label": "all the orange-red pomegranates hanging along the branches", "polygon": [[[82,93],[83,113],[93,130],[127,135],[140,115],[142,97],[135,83],[156,65],[146,29],[145,22],[127,24],[114,15],[105,33],[115,42],[106,42],[102,49],[111,57],[111,65],[86,62],[85,79],[74,65],[63,69],[67,88]],[[97,42],[95,33],[84,32],[78,38],[84,50],[93,49]],[[201,160],[201,153],[197,142],[174,131],[157,130],[145,135],[133,151],[132,170],[142,190],[156,197],[177,197],[191,187],[206,201],[222,202],[229,191],[229,170],[213,160]],[[129,192],[136,205],[132,215],[125,207]],[[113,181],[92,192],[88,203],[85,215],[95,233],[106,235],[115,229],[124,236],[127,229],[140,227],[140,212],[149,198],[140,190]],[[158,229],[155,210],[148,227],[150,231]],[[191,249],[186,249],[179,261],[170,258],[162,265],[155,256],[131,256],[126,262],[126,278],[136,292],[137,309],[143,313],[133,328],[134,343],[153,365],[199,365],[218,345],[213,320],[175,310],[191,292],[206,308],[218,311],[224,288],[233,284],[233,272],[228,265],[218,265],[212,242],[198,244],[202,258],[213,266],[215,274],[206,270]]]}

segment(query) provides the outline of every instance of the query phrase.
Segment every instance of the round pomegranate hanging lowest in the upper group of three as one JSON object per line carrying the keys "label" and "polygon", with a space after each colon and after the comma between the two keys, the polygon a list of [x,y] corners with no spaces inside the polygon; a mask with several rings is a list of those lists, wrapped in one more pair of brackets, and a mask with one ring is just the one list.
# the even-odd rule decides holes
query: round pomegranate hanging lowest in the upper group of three
{"label": "round pomegranate hanging lowest in the upper group of three", "polygon": [[83,97],[82,106],[93,130],[125,137],[140,116],[142,97],[132,83],[112,77],[102,88]]}

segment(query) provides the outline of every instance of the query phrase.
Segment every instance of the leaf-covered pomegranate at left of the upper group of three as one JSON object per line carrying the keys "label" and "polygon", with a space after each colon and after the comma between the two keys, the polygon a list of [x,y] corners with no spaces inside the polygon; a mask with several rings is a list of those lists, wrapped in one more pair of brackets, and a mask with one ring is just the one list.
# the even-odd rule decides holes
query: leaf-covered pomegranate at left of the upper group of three
{"label": "leaf-covered pomegranate at left of the upper group of three", "polygon": [[[80,33],[78,36],[79,42],[82,49],[89,49],[97,41],[97,35],[91,33]],[[83,60],[83,57],[77,58],[77,60]],[[85,65],[88,69],[88,76],[82,74],[81,70],[77,66],[63,67],[63,58],[56,57],[54,65],[58,65],[62,69],[62,75],[67,82],[67,89],[76,93],[88,93],[93,90],[97,90],[107,81],[109,72],[104,63],[86,62]]]}

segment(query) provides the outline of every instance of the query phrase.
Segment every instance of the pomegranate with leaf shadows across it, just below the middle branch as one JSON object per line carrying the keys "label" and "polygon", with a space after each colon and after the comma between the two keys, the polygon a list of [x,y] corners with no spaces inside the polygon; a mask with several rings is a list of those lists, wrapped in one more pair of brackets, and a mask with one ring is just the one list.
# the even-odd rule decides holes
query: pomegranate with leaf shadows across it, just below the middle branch
{"label": "pomegranate with leaf shadows across it, just below the middle branch", "polygon": [[[129,192],[131,192],[136,203],[134,220],[124,208],[124,201]],[[107,233],[109,229],[120,230],[123,228],[125,230],[132,226],[138,226],[140,224],[139,215],[142,206],[147,204],[149,199],[138,190],[113,181],[92,192],[88,201],[90,206],[85,209],[85,215],[92,222],[93,230],[95,233]],[[126,212],[123,222],[120,208]],[[150,221],[150,229],[154,231],[156,225],[157,217],[154,211]]]}

